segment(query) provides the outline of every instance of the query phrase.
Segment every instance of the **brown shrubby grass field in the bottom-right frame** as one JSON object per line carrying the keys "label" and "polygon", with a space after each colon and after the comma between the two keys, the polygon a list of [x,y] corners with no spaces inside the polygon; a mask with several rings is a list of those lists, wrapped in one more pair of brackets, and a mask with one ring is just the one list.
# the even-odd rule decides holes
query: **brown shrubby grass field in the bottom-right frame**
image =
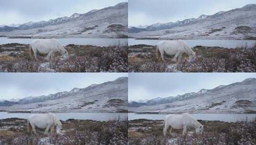
{"label": "brown shrubby grass field in the bottom-right frame", "polygon": [[204,125],[202,135],[182,135],[182,130],[173,130],[172,135],[164,136],[163,120],[131,120],[129,145],[256,145],[256,119],[236,123],[199,122]]}

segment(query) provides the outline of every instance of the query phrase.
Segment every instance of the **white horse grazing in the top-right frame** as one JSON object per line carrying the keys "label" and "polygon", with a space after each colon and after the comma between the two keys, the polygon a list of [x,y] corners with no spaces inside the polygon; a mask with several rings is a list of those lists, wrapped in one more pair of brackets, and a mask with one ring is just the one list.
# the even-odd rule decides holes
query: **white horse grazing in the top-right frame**
{"label": "white horse grazing in the top-right frame", "polygon": [[178,62],[181,61],[181,56],[183,53],[187,53],[189,55],[189,62],[192,62],[196,58],[196,53],[182,40],[173,40],[173,41],[161,41],[156,46],[156,58],[159,59],[161,55],[162,61],[164,60],[164,53],[168,55],[174,55],[173,61]]}

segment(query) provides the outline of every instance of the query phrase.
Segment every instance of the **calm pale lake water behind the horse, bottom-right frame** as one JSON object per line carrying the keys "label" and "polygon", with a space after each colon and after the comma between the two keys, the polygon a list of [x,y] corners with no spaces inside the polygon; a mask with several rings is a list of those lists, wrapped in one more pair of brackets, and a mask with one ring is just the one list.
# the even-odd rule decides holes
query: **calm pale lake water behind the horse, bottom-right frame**
{"label": "calm pale lake water behind the horse, bottom-right frame", "polygon": [[[236,122],[245,120],[246,117],[248,120],[256,118],[256,114],[191,114],[196,119],[208,120],[208,121],[225,121],[225,122]],[[151,119],[151,120],[164,120],[166,114],[134,114],[129,113],[128,119]]]}

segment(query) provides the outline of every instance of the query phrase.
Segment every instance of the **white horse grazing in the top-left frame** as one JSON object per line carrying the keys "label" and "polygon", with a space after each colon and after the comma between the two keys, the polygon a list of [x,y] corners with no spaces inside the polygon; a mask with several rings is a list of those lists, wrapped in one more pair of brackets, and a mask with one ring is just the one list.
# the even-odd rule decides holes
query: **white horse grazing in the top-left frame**
{"label": "white horse grazing in the top-left frame", "polygon": [[55,52],[60,52],[63,59],[68,59],[67,50],[56,39],[37,39],[30,43],[30,57],[37,60],[37,52],[41,54],[47,54],[46,59],[49,61],[55,57]]}

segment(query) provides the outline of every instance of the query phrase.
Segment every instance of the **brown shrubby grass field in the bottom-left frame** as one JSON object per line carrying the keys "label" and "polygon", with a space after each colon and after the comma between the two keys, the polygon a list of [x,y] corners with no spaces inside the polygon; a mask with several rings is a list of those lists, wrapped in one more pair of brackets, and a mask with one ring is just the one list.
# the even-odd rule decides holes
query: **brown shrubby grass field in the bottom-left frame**
{"label": "brown shrubby grass field in the bottom-left frame", "polygon": [[62,135],[47,136],[36,129],[38,136],[27,133],[27,120],[0,120],[0,145],[127,145],[127,121],[61,121]]}

